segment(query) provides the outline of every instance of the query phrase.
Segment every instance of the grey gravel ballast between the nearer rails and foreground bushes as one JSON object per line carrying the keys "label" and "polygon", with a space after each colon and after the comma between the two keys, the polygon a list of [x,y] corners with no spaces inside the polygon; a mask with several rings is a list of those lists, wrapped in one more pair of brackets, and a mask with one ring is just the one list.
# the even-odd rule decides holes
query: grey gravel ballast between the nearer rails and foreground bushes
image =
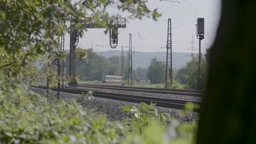
{"label": "grey gravel ballast between the nearer rails and foreground bushes", "polygon": [[[46,96],[45,89],[30,87],[30,90],[33,92],[36,92],[42,96]],[[56,92],[54,92],[54,91],[51,91],[50,93],[53,95],[56,94]],[[123,111],[123,106],[137,106],[137,107],[139,106],[138,103],[106,99],[106,98],[98,98],[98,97],[89,97],[88,98],[81,94],[71,94],[71,93],[64,93],[64,92],[60,92],[60,98],[66,100],[66,101],[76,100],[83,107],[86,107],[89,110],[105,113],[107,118],[110,121],[121,120],[124,118],[130,118],[132,116],[132,114],[130,112]],[[159,112],[168,113],[171,117],[177,118],[181,122],[192,121],[193,117],[198,116],[198,113],[196,113],[196,112],[189,112],[183,118],[180,118],[178,116],[180,110],[170,109],[167,107],[160,107],[160,106],[155,106],[155,108]]]}

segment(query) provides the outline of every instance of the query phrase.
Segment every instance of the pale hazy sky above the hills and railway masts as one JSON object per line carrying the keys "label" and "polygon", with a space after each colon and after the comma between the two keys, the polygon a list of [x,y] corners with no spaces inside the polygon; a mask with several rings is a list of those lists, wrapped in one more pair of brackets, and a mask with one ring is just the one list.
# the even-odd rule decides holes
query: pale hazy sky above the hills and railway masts
{"label": "pale hazy sky above the hills and railway masts", "polygon": [[[205,18],[205,39],[201,49],[205,52],[214,41],[219,17],[220,0],[182,0],[180,3],[160,2],[159,0],[148,0],[150,9],[158,8],[162,16],[158,21],[144,18],[143,20],[127,19],[126,28],[119,28],[117,49],[109,46],[109,34],[104,34],[105,29],[89,29],[83,38],[79,38],[78,47],[88,49],[91,46],[95,51],[121,50],[121,46],[129,46],[129,34],[132,34],[132,46],[135,51],[155,52],[166,51],[160,47],[166,46],[167,19],[172,19],[172,51],[173,52],[198,52],[198,40],[195,36],[195,24],[197,17]],[[109,8],[111,14],[120,13],[127,17],[127,13],[121,13],[115,6]],[[192,46],[192,35],[194,35],[194,47],[196,50],[188,50]],[[69,35],[65,37],[65,49],[69,49]],[[127,47],[124,47],[127,50]]]}

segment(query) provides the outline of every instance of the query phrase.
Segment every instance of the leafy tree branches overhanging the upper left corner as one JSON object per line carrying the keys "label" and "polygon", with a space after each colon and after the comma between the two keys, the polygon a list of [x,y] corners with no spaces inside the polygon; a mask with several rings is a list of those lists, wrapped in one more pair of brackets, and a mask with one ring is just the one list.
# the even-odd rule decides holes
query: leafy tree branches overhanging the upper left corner
{"label": "leafy tree branches overhanging the upper left corner", "polygon": [[[151,16],[156,20],[160,14],[150,11],[146,1],[1,1],[0,2],[0,50],[1,74],[5,77],[3,83],[22,82],[24,75],[35,79],[35,74],[26,67],[36,61],[40,55],[51,58],[63,58],[57,39],[63,33],[72,29],[84,29],[82,25],[69,27],[64,22],[84,20],[87,14],[98,22],[98,25],[109,28],[107,21],[99,22],[98,17],[109,19],[106,8],[115,3],[120,10],[128,11],[131,18],[142,19]],[[22,18],[21,18],[22,17]],[[82,36],[83,31],[79,31]],[[57,51],[56,51],[57,50]],[[15,68],[15,69],[13,69]],[[10,77],[15,79],[10,79]],[[5,86],[1,86],[4,88]]]}

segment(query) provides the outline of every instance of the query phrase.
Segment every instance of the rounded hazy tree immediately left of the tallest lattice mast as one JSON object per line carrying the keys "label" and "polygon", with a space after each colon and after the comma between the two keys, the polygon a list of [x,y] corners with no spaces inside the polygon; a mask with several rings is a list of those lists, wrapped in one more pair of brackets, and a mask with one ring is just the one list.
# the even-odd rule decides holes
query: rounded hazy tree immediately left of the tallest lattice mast
{"label": "rounded hazy tree immediately left of the tallest lattice mast", "polygon": [[163,83],[165,80],[165,62],[156,61],[148,67],[148,79],[151,83]]}

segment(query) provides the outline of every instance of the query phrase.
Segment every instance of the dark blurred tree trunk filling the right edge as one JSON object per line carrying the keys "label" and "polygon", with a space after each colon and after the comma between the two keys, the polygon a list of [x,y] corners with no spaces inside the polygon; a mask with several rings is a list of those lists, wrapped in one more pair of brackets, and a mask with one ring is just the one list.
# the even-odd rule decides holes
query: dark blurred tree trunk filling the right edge
{"label": "dark blurred tree trunk filling the right edge", "polygon": [[255,143],[255,1],[225,0],[197,143]]}

